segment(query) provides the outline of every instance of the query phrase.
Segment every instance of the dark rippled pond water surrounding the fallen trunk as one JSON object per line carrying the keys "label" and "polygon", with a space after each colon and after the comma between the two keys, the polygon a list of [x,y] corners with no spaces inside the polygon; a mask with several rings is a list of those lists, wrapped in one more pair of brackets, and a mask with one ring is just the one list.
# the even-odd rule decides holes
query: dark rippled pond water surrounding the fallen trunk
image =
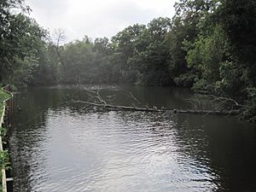
{"label": "dark rippled pond water surrounding the fallen trunk", "polygon": [[256,191],[256,129],[236,118],[103,111],[67,102],[101,90],[113,104],[137,100],[190,108],[189,90],[95,86],[40,88],[15,96],[10,137],[15,192]]}

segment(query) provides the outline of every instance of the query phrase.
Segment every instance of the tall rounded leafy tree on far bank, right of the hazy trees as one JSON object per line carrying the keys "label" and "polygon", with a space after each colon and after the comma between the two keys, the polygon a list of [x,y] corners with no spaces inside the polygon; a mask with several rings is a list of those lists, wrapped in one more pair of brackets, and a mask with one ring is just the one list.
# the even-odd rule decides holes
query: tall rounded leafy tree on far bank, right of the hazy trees
{"label": "tall rounded leafy tree on far bank, right of the hazy trees", "polygon": [[[141,48],[135,49],[131,57],[131,67],[137,71],[137,81],[141,84],[171,84],[168,73],[169,50],[165,41],[171,28],[171,20],[157,18],[148,23],[148,28],[140,36]],[[145,42],[146,41],[146,44]]]}

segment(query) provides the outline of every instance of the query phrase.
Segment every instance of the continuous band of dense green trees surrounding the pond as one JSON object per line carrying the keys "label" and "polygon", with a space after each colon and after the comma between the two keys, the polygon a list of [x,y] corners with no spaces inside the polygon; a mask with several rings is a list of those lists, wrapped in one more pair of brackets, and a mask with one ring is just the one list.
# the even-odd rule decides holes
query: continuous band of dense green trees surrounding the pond
{"label": "continuous band of dense green trees surrounding the pond", "polygon": [[29,17],[23,0],[0,0],[0,82],[133,83],[189,87],[246,104],[256,118],[256,1],[179,0],[172,19],[127,26],[113,38],[62,44]]}

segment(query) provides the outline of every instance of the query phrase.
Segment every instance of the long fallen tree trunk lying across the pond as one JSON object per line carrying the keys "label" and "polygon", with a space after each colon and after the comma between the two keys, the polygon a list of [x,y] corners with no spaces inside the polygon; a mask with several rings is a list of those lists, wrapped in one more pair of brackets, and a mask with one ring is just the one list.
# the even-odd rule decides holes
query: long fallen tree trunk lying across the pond
{"label": "long fallen tree trunk lying across the pond", "polygon": [[119,109],[119,110],[127,110],[127,111],[144,111],[144,112],[169,112],[169,113],[189,113],[189,114],[212,114],[212,115],[238,115],[240,110],[191,110],[191,109],[168,109],[168,108],[137,108],[131,106],[122,106],[122,105],[110,105],[110,104],[101,104],[96,102],[85,102],[85,101],[76,101],[72,100],[75,103],[84,103],[91,106],[108,108],[108,109]]}

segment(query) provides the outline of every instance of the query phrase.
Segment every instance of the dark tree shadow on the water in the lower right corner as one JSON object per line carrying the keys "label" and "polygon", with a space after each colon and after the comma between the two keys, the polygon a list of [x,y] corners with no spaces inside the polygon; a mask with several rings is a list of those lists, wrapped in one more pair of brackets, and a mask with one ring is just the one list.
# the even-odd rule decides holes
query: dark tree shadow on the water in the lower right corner
{"label": "dark tree shadow on the water in the lower right corner", "polygon": [[255,125],[235,118],[196,115],[179,115],[177,122],[179,141],[186,146],[184,152],[216,173],[214,182],[219,189],[256,189]]}

